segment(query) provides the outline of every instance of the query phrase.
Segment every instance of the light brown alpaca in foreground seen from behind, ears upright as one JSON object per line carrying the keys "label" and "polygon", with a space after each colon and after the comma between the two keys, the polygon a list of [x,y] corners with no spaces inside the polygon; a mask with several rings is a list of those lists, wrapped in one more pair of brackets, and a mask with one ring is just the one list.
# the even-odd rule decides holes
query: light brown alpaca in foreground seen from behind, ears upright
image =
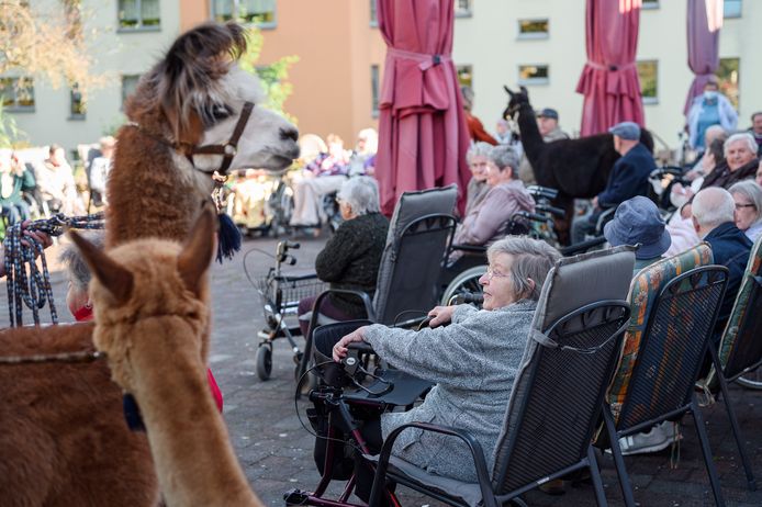
{"label": "light brown alpaca in foreground seen from behind, ears upright", "polygon": [[71,233],[94,275],[96,347],[141,407],[169,506],[261,505],[206,384],[214,219],[208,207],[183,246],[142,239],[109,254]]}

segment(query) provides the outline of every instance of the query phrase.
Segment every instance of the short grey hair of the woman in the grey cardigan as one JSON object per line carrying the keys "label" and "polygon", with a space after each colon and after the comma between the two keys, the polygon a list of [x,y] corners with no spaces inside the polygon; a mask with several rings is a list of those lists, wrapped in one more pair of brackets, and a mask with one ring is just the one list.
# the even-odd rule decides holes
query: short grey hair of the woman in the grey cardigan
{"label": "short grey hair of the woman in the grey cardigan", "polygon": [[[492,263],[498,254],[511,256],[511,284],[517,297],[537,301],[548,272],[561,258],[559,251],[539,239],[528,236],[508,236],[495,241],[486,250],[486,258]],[[534,281],[533,286],[529,280]]]}

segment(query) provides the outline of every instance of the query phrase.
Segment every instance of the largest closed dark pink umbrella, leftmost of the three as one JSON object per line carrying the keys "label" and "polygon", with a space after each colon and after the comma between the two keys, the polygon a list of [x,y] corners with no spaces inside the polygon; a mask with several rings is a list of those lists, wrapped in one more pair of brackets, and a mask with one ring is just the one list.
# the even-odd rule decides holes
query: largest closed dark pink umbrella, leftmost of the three
{"label": "largest closed dark pink umbrella, leftmost of the three", "polygon": [[462,212],[471,173],[469,135],[452,64],[452,0],[379,0],[386,60],[379,100],[376,174],[391,215],[406,191],[458,184]]}

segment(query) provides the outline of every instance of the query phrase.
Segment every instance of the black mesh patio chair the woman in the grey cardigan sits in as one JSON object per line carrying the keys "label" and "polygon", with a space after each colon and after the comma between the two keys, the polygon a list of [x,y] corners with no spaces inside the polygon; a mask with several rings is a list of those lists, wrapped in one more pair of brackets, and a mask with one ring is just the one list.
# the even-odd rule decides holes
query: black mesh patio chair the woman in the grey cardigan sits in
{"label": "black mesh patio chair the woman in the grey cardigan sits in", "polygon": [[[378,461],[370,506],[386,478],[450,505],[496,507],[548,481],[589,467],[598,505],[606,505],[591,441],[629,320],[624,300],[632,273],[629,247],[561,259],[542,288],[503,430],[488,465],[480,443],[466,431],[416,422],[386,438]],[[471,449],[478,483],[428,473],[391,457],[408,428],[462,440]],[[491,472],[490,472],[491,470]]]}

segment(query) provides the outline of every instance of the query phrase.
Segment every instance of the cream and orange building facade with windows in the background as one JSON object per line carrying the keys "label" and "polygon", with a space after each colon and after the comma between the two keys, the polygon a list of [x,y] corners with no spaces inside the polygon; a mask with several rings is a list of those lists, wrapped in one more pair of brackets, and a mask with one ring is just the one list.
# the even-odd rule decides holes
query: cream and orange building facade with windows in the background
{"label": "cream and orange building facade with windows in the background", "polygon": [[[49,9],[58,0],[32,0]],[[453,60],[461,81],[475,91],[474,112],[493,129],[507,97],[503,84],[528,88],[536,108],[559,111],[561,125],[579,132],[582,95],[574,89],[585,63],[584,0],[453,0]],[[693,78],[687,67],[687,0],[641,0],[638,68],[647,125],[675,147]],[[86,108],[76,90],[34,82],[30,93],[4,97],[5,111],[32,145],[72,149],[112,132],[122,104],[145,72],[182,31],[208,20],[236,18],[262,30],[259,63],[296,55],[293,94],[285,109],[300,131],[340,135],[348,145],[378,124],[385,44],[376,22],[377,0],[82,0],[86,30],[96,29],[96,71],[109,84],[92,91]],[[725,0],[720,35],[724,89],[735,95],[739,127],[762,110],[762,56],[751,42],[762,26],[762,1]],[[12,77],[11,77],[12,78]],[[3,81],[5,82],[5,81]],[[8,94],[8,93],[7,93]],[[18,95],[18,97],[16,97]]]}

